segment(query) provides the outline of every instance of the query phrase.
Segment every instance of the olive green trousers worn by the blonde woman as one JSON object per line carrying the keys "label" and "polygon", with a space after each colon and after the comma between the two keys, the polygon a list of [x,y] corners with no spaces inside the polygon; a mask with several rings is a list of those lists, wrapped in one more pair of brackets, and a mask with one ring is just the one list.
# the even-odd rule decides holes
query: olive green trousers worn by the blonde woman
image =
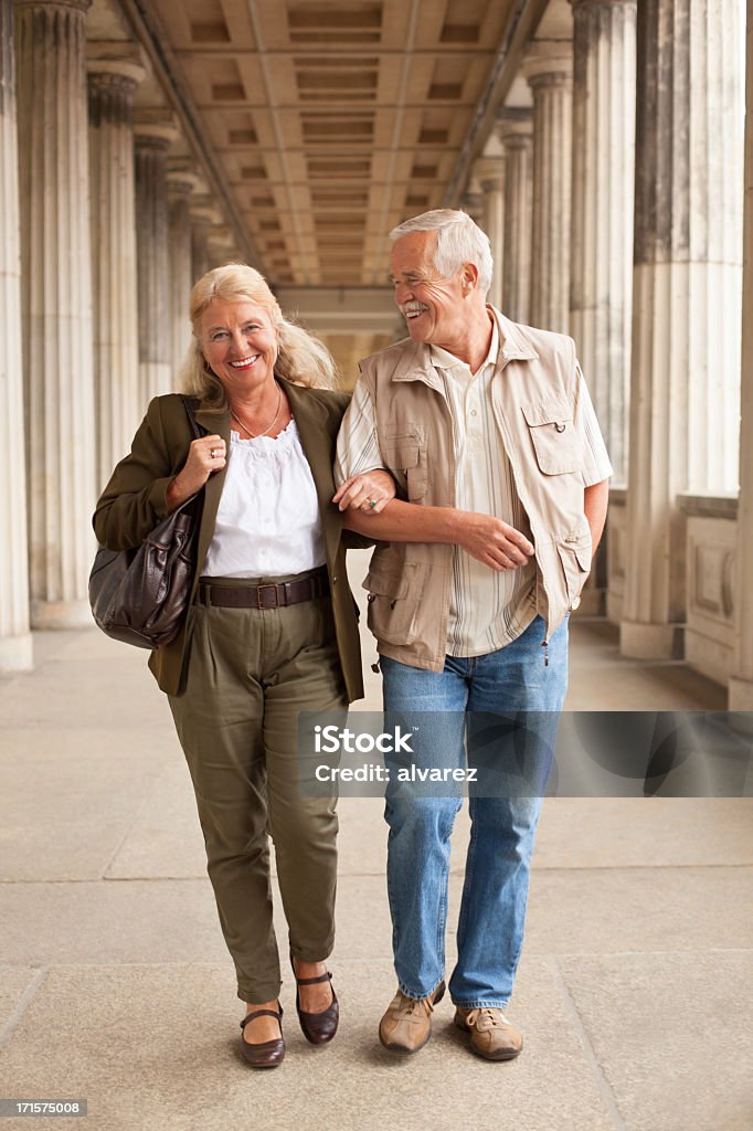
{"label": "olive green trousers worn by the blonde woman", "polygon": [[336,802],[301,795],[297,751],[298,711],[347,709],[331,602],[261,610],[196,604],[188,631],[185,692],[170,696],[170,706],[237,995],[259,1004],[276,999],[282,985],[269,837],[289,949],[303,961],[321,961],[332,949]]}

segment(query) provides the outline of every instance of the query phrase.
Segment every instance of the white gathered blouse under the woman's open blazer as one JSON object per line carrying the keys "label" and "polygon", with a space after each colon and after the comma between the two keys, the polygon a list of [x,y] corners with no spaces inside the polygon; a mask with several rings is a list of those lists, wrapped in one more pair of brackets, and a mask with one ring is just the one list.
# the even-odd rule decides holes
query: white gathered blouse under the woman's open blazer
{"label": "white gathered blouse under the woman's open blazer", "polygon": [[278,577],[327,561],[317,487],[295,421],[276,439],[231,432],[202,577]]}

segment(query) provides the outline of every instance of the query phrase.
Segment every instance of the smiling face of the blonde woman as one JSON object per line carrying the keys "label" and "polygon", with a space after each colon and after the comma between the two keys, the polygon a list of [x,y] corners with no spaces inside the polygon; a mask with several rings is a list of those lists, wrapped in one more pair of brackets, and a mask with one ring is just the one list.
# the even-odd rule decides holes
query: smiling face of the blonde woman
{"label": "smiling face of the blonde woman", "polygon": [[228,395],[274,379],[279,336],[263,307],[214,299],[201,314],[201,348]]}

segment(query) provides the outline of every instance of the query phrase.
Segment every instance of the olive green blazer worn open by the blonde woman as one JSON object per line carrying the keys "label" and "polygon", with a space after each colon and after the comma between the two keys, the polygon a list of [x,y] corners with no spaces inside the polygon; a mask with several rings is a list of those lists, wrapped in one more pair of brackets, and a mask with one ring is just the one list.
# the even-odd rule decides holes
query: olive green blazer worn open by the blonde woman
{"label": "olive green blazer worn open by the blonde woman", "polygon": [[[343,516],[330,502],[335,494],[335,441],[349,396],[327,389],[302,388],[282,379],[280,383],[287,394],[301,444],[317,485],[337,646],[348,699],[353,701],[363,697],[363,676],[357,608],[345,569],[343,534],[349,532],[343,530]],[[230,413],[217,414],[199,408],[196,418],[210,434],[222,435],[230,448]],[[118,464],[97,502],[94,530],[103,546],[109,550],[139,546],[149,532],[167,516],[167,485],[185,463],[192,439],[181,398],[176,394],[155,397],[133,438],[130,455]],[[224,482],[225,469],[211,475],[205,487],[191,601],[196,595],[200,566],[215,533]],[[350,536],[349,541],[350,544],[367,545],[357,535]],[[184,691],[188,661],[185,645],[184,625],[174,640],[157,648],[149,658],[149,667],[167,694],[182,694]]]}

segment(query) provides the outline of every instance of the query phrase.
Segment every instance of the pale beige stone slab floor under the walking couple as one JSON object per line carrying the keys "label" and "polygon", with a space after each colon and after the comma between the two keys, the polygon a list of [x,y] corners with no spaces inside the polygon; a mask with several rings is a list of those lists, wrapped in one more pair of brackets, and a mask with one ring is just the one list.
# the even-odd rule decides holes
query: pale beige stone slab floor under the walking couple
{"label": "pale beige stone slab floor under the walking couple", "polygon": [[[53,1125],[92,1131],[751,1131],[748,797],[547,800],[510,1010],[526,1051],[508,1064],[466,1051],[449,1002],[421,1055],[380,1048],[393,992],[381,806],[343,802],[340,1033],[306,1045],[288,981],[286,1062],[254,1073],[145,655],[94,630],[35,642],[35,671],[0,681],[0,1098],[86,1098],[86,1119]],[[614,632],[581,621],[569,705],[724,700],[682,665],[620,661]],[[466,837],[462,820],[451,922]]]}

